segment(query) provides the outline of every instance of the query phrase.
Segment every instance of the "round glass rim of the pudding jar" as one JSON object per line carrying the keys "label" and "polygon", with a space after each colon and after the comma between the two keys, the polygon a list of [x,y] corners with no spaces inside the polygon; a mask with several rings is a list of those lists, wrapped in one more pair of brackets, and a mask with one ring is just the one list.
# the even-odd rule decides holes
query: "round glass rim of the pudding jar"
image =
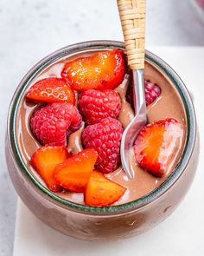
{"label": "round glass rim of the pudding jar", "polygon": [[43,59],[41,59],[40,62],[37,62],[32,69],[29,69],[29,72],[22,78],[22,81],[16,88],[15,94],[13,95],[13,98],[10,102],[10,109],[7,120],[7,141],[13,160],[16,161],[16,166],[26,177],[26,179],[29,180],[29,182],[32,182],[35,187],[38,188],[39,192],[48,196],[48,200],[51,200],[58,206],[60,205],[61,207],[68,207],[75,212],[92,213],[95,215],[115,215],[118,213],[136,211],[139,208],[150,204],[152,201],[157,200],[160,196],[166,193],[169,188],[175,184],[175,181],[179,179],[179,177],[184,172],[186,166],[188,165],[188,161],[190,160],[191,154],[194,150],[194,143],[196,137],[196,118],[194,113],[194,105],[188,93],[188,89],[182,82],[180,76],[175,73],[174,69],[172,69],[161,58],[146,50],[145,59],[148,62],[152,63],[154,66],[156,66],[157,69],[160,69],[163,74],[169,78],[170,82],[174,84],[175,88],[177,89],[179,95],[182,98],[182,102],[186,112],[186,144],[183,150],[182,157],[178,162],[177,166],[175,167],[175,171],[169,175],[169,178],[166,181],[164,181],[159,187],[156,187],[154,190],[152,190],[149,194],[145,194],[137,200],[132,200],[131,202],[127,202],[122,205],[110,207],[88,207],[85,205],[74,203],[69,200],[65,200],[57,194],[52,193],[50,190],[48,190],[47,187],[44,187],[40,181],[37,181],[35,175],[29,171],[29,168],[23,161],[22,154],[20,148],[18,147],[18,142],[16,139],[16,116],[22,97],[29,87],[29,83],[35,78],[36,75],[41,72],[41,70],[45,69],[53,62],[58,61],[62,57],[75,54],[81,50],[112,48],[124,49],[124,43],[109,40],[87,41],[82,43],[74,43],[72,45],[68,45],[64,48],[54,51],[54,53],[44,57]]}

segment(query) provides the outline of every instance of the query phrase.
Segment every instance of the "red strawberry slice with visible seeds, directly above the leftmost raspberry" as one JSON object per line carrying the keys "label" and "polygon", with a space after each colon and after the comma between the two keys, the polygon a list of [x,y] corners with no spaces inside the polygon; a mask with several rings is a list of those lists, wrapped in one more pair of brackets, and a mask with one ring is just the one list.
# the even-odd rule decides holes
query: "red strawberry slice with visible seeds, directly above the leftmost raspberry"
{"label": "red strawberry slice with visible seeds, directly above the leftmost raspberry", "polygon": [[36,82],[26,97],[36,102],[75,103],[75,96],[70,86],[61,78],[49,77]]}

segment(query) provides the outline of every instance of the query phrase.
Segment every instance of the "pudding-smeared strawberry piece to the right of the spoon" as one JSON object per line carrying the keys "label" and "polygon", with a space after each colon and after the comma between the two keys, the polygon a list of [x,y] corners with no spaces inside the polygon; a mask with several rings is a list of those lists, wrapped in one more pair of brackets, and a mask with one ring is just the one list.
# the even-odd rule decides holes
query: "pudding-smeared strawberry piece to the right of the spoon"
{"label": "pudding-smeared strawberry piece to the right of the spoon", "polygon": [[174,118],[148,124],[134,145],[138,165],[156,177],[162,177],[169,165],[176,161],[183,135],[182,124]]}

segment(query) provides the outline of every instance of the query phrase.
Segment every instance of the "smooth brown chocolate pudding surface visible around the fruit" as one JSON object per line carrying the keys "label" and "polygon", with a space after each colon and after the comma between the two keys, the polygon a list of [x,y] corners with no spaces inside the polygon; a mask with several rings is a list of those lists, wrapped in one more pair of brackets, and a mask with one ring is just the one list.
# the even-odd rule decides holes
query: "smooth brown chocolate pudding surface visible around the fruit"
{"label": "smooth brown chocolate pudding surface visible around the fruit", "polygon": [[[76,56],[73,56],[74,58]],[[72,57],[72,58],[73,58]],[[77,56],[79,57],[79,55]],[[52,77],[52,76],[61,76],[61,70],[65,62],[70,60],[63,59],[61,61],[55,62],[48,69],[45,69],[41,72],[40,75],[37,75],[35,79],[31,82],[30,86],[35,82],[41,80],[42,78]],[[127,203],[132,200],[137,200],[145,194],[150,193],[156,187],[158,187],[163,181],[165,181],[170,174],[175,170],[175,167],[178,161],[181,158],[183,148],[186,141],[186,116],[185,110],[182,104],[182,100],[178,93],[176,92],[174,85],[163,76],[160,71],[153,67],[149,62],[145,62],[145,72],[144,79],[158,85],[162,91],[161,95],[156,99],[155,102],[150,104],[147,108],[148,121],[159,121],[165,118],[171,117],[175,118],[182,123],[182,128],[180,131],[181,140],[176,141],[174,145],[174,157],[172,156],[171,162],[168,165],[168,169],[165,170],[165,174],[162,178],[156,178],[150,173],[144,171],[141,167],[138,167],[137,162],[132,156],[131,158],[131,171],[133,174],[133,179],[128,180],[127,176],[124,174],[123,168],[118,167],[117,170],[111,174],[105,174],[110,180],[118,182],[120,185],[127,188],[124,196],[114,203],[114,205],[120,205]],[[131,77],[126,74],[124,76],[124,81],[121,85],[115,89],[121,97],[122,108],[118,116],[118,120],[121,121],[123,127],[125,128],[131,119],[134,117],[134,110],[131,108],[131,104],[126,101],[126,90],[130,85]],[[35,175],[35,177],[41,181],[41,177],[36,174],[33,167],[30,166],[30,156],[40,148],[41,145],[32,135],[29,128],[29,117],[34,111],[35,108],[39,108],[39,104],[34,102],[29,102],[23,98],[21,103],[21,108],[18,111],[17,119],[17,138],[19,146],[21,148],[22,157],[25,163],[28,165],[30,172]],[[83,147],[80,140],[80,135],[83,131],[84,123],[81,128],[69,136],[67,148],[73,152],[73,154],[78,153]],[[84,204],[83,194],[70,193],[66,190],[58,194],[64,199],[71,200],[76,203]]]}

